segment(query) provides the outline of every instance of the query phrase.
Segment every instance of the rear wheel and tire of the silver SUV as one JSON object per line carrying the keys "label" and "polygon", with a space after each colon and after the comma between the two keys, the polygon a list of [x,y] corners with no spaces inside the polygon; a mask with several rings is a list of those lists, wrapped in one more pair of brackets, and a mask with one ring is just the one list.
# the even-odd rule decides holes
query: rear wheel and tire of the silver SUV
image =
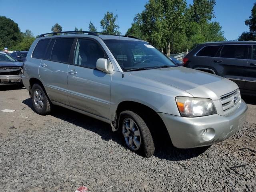
{"label": "rear wheel and tire of the silver SUV", "polygon": [[51,111],[51,103],[46,92],[39,84],[34,84],[31,91],[34,110],[40,115],[47,115]]}

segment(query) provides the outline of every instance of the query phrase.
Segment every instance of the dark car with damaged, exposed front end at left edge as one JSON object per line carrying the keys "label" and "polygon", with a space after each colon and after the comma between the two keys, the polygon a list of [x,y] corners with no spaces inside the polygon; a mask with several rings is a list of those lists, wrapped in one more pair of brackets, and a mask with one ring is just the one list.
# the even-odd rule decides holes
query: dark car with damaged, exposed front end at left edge
{"label": "dark car with damaged, exposed front end at left edge", "polygon": [[22,85],[23,63],[5,52],[0,52],[0,84],[16,83]]}

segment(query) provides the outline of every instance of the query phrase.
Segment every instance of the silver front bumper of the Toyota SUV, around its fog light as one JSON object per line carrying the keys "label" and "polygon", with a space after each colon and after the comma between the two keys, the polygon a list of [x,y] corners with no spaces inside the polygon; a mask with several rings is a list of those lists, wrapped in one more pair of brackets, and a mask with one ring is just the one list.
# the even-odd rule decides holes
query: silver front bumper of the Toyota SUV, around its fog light
{"label": "silver front bumper of the Toyota SUV, around its fog light", "polygon": [[[158,113],[177,148],[208,146],[229,138],[244,124],[247,105],[241,100],[240,106],[226,116],[218,114],[204,117],[182,117]],[[210,130],[209,137],[202,137],[204,130]],[[209,140],[210,138],[210,140]]]}

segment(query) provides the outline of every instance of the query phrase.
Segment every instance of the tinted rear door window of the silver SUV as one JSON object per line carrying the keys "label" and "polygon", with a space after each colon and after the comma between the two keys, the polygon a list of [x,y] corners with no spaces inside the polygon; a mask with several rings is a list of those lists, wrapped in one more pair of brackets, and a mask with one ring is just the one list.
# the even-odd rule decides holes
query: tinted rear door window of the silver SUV
{"label": "tinted rear door window of the silver SUV", "polygon": [[52,49],[51,60],[56,62],[68,63],[68,58],[69,58],[73,41],[74,41],[74,38],[56,39]]}

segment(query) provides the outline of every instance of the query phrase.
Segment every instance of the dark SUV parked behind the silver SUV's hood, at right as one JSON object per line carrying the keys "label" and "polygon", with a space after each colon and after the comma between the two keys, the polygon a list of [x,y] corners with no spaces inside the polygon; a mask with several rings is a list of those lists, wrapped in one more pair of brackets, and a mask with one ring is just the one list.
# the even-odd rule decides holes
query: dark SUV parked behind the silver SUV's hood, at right
{"label": "dark SUV parked behind the silver SUV's hood, at right", "polygon": [[228,78],[241,92],[256,94],[256,41],[200,44],[183,58],[183,65]]}

